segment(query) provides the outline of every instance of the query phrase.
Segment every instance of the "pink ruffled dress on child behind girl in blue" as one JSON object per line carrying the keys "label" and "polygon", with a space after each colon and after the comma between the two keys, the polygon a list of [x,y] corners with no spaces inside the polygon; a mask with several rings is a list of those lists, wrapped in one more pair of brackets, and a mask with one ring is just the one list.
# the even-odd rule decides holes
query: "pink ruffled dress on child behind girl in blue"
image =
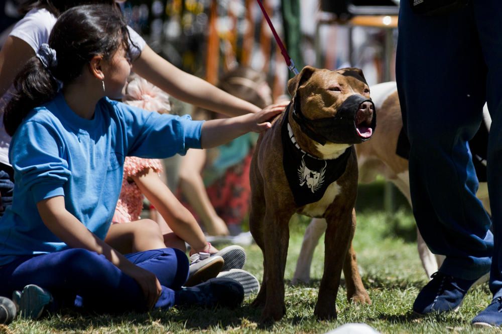
{"label": "pink ruffled dress on child behind girl in blue", "polygon": [[126,157],[122,189],[113,214],[113,224],[140,219],[141,210],[143,209],[143,193],[130,177],[146,168],[152,168],[155,172],[160,173],[162,172],[162,162],[158,159]]}

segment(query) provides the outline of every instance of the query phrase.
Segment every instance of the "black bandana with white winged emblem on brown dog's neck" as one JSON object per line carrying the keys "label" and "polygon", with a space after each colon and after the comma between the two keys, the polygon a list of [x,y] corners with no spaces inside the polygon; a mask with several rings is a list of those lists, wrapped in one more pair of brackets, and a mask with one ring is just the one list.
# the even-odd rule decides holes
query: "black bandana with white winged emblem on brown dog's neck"
{"label": "black bandana with white winged emblem on brown dog's neck", "polygon": [[[319,201],[327,187],[345,172],[353,146],[336,159],[322,160],[303,151],[288,130],[289,106],[281,125],[283,167],[297,206]],[[291,129],[291,128],[290,128]]]}

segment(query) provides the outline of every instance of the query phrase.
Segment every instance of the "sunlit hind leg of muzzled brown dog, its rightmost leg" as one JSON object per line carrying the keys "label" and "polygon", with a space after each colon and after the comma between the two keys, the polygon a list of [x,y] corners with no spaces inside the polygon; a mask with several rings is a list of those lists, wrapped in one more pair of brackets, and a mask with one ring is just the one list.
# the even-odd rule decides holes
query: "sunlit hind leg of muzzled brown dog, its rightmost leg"
{"label": "sunlit hind leg of muzzled brown dog, its rightmost leg", "polygon": [[[355,227],[355,209],[352,210],[352,224]],[[353,236],[352,236],[353,237]],[[357,260],[355,251],[352,248],[352,237],[350,238],[350,245],[345,256],[343,263],[343,274],[345,276],[345,286],[347,288],[347,299],[353,302],[371,304],[364,285],[362,284],[361,276],[359,275],[359,268],[357,267]]]}

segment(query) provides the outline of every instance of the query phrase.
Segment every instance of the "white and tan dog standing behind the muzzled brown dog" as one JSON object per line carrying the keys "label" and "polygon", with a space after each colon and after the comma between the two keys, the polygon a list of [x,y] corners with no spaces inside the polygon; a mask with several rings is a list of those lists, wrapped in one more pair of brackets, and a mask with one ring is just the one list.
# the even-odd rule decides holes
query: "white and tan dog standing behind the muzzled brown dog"
{"label": "white and tan dog standing behind the muzzled brown dog", "polygon": [[[395,82],[388,82],[371,86],[371,99],[378,110],[379,129],[370,141],[356,146],[357,163],[359,166],[359,182],[369,183],[380,174],[387,181],[392,182],[403,193],[411,205],[410,182],[408,175],[408,160],[396,154],[398,138],[403,127],[401,108]],[[483,110],[486,126],[489,129],[491,120],[487,108]],[[476,196],[490,213],[488,188],[486,182],[479,183]],[[314,249],[319,238],[326,230],[323,218],[314,218],[306,229],[305,236],[298,257],[292,283],[307,283],[310,280],[310,264]],[[430,277],[441,266],[444,257],[434,255],[429,250],[417,229],[418,253],[422,265]],[[486,277],[484,277],[486,279]]]}

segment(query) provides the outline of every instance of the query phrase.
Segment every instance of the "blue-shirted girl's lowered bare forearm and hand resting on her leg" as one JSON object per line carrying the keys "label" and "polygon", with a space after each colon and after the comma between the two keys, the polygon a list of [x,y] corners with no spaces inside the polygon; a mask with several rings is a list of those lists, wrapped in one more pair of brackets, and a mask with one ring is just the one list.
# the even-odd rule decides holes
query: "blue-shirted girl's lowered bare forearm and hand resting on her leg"
{"label": "blue-shirted girl's lowered bare forearm and hand resting on her leg", "polygon": [[66,210],[63,196],[41,200],[37,203],[37,208],[44,224],[61,241],[72,248],[83,248],[104,255],[117,268],[138,282],[149,308],[155,305],[162,291],[157,277],[152,272],[133,264],[89,231]]}

